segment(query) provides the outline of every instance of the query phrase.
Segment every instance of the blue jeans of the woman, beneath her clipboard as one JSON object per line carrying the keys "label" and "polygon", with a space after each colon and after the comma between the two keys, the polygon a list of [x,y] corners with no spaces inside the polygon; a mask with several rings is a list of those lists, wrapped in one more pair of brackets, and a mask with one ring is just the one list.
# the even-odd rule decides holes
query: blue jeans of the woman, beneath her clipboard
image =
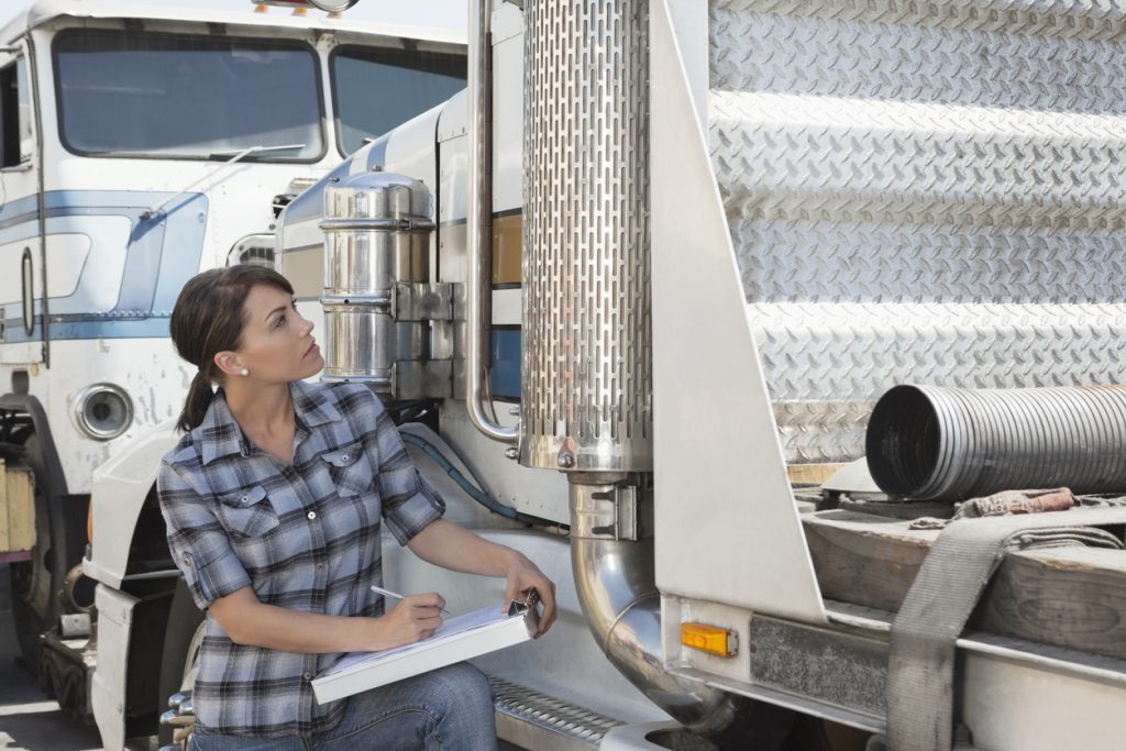
{"label": "blue jeans of the woman, beneath her clipboard", "polygon": [[440,668],[348,700],[332,730],[312,736],[191,735],[193,751],[490,751],[497,749],[489,679],[466,663]]}

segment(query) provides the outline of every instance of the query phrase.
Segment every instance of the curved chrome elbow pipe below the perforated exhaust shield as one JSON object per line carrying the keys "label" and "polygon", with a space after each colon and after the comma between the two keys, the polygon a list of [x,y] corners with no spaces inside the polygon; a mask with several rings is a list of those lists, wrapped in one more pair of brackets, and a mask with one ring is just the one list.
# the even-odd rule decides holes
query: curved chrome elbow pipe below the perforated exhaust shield
{"label": "curved chrome elbow pipe below the perforated exhaust shield", "polygon": [[[636,515],[623,515],[619,488],[606,475],[571,477],[571,567],[579,605],[598,646],[631,683],[689,730],[714,735],[736,719],[740,698],[662,667],[661,597],[644,519],[652,503],[638,500]],[[641,519],[634,528],[642,534],[633,535],[641,539],[627,539],[628,518]]]}

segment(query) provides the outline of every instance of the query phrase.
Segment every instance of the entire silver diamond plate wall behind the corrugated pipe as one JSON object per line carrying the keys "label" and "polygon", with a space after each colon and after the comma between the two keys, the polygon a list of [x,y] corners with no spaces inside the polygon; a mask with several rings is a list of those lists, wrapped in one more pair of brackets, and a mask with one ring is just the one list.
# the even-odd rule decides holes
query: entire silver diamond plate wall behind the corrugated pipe
{"label": "entire silver diamond plate wall behind the corrugated pipe", "polygon": [[715,0],[713,164],[790,462],[896,383],[1121,383],[1126,3]]}

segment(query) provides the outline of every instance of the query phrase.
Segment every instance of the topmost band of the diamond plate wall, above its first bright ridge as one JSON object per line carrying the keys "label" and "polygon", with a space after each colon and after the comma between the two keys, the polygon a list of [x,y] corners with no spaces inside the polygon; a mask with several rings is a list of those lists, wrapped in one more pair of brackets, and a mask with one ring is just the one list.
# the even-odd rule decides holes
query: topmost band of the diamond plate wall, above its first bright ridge
{"label": "topmost band of the diamond plate wall, above its first bright ridge", "polygon": [[[971,23],[971,3],[945,3],[962,14],[950,23],[956,16],[919,12],[924,3],[851,2],[851,12],[833,5],[713,3],[712,86],[1056,111],[1126,108],[1126,59],[1115,42],[1120,16],[1094,28],[1090,9],[1066,3],[1087,14],[1083,23],[1057,12],[1034,24],[1017,3],[998,2],[990,5],[1009,6],[1004,24],[984,23],[985,9]],[[1065,3],[1020,3],[1048,5]],[[1052,34],[1065,25],[1066,35]]]}

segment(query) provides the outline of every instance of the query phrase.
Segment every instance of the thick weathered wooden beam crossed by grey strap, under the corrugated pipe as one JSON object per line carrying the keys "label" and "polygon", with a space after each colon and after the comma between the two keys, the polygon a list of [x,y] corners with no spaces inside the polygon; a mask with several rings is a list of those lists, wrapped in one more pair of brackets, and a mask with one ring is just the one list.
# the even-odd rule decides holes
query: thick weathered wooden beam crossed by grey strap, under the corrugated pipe
{"label": "thick weathered wooden beam crossed by grey strap, under the corrugated pipe", "polygon": [[[896,611],[933,530],[848,511],[803,517],[822,594]],[[1084,547],[1012,553],[969,628],[1126,659],[1126,552]]]}

